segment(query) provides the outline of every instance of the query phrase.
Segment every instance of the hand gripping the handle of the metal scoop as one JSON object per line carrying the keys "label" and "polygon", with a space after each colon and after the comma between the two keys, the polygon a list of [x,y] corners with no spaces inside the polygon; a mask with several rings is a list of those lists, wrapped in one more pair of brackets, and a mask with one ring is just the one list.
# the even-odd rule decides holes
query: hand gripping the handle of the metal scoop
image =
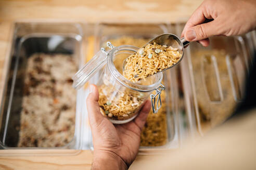
{"label": "hand gripping the handle of the metal scoop", "polygon": [[[212,21],[204,23],[206,19]],[[255,0],[205,0],[187,21],[181,36],[207,47],[208,37],[240,35],[254,29]]]}

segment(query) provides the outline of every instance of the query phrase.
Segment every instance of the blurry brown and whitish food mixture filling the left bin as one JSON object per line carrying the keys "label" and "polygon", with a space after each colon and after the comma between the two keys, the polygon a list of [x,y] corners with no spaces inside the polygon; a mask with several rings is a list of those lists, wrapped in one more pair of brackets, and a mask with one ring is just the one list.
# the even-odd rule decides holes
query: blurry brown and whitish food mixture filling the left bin
{"label": "blurry brown and whitish food mixture filling the left bin", "polygon": [[72,55],[36,53],[28,59],[19,147],[59,147],[74,136],[77,71]]}

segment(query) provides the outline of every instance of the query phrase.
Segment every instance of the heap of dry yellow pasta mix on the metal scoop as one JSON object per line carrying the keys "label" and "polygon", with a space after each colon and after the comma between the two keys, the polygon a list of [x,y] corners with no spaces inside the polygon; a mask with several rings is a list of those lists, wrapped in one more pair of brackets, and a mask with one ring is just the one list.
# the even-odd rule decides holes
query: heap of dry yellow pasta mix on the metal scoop
{"label": "heap of dry yellow pasta mix on the metal scoop", "polygon": [[137,82],[171,67],[180,61],[181,57],[182,54],[178,49],[172,46],[148,44],[126,59],[123,76],[132,82]]}

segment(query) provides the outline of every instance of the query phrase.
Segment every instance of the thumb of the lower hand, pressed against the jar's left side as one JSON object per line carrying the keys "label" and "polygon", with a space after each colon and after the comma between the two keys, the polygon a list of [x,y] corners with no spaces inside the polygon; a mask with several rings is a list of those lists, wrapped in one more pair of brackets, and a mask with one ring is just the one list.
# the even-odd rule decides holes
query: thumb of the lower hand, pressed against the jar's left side
{"label": "thumb of the lower hand, pressed against the jar's left side", "polygon": [[86,99],[86,106],[88,110],[88,117],[89,117],[89,122],[92,126],[97,126],[103,119],[104,116],[101,115],[100,110],[99,110],[99,92],[97,87],[94,84],[91,84],[89,86],[90,93]]}

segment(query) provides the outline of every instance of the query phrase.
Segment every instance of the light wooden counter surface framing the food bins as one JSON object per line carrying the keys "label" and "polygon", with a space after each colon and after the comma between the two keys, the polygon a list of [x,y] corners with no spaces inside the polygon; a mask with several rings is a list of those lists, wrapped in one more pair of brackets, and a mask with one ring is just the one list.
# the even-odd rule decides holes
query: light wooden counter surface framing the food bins
{"label": "light wooden counter surface framing the food bins", "polygon": [[[77,20],[89,23],[170,23],[186,21],[201,0],[143,1],[0,1],[0,75],[11,42],[11,25],[20,20]],[[3,82],[0,83],[2,90]],[[10,152],[0,150],[0,155]],[[12,152],[15,152],[12,150]],[[47,151],[46,151],[47,152]],[[92,152],[70,156],[1,156],[0,169],[90,169]],[[130,169],[145,157],[138,155]]]}

